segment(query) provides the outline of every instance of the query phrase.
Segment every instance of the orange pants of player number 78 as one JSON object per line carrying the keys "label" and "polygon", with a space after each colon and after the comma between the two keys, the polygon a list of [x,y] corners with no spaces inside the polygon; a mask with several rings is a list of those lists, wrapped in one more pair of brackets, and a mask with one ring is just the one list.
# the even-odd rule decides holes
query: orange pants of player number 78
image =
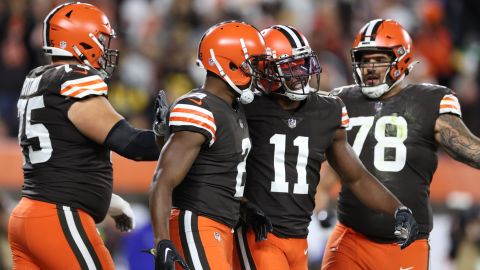
{"label": "orange pants of player number 78", "polygon": [[401,250],[398,244],[373,242],[337,223],[325,247],[322,270],[427,270],[429,253],[427,239],[418,239]]}

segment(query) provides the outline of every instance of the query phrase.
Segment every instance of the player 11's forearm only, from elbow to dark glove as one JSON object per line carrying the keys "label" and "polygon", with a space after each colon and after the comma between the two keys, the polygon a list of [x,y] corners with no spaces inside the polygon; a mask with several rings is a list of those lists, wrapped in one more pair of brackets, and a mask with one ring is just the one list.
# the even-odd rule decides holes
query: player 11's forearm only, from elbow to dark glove
{"label": "player 11's forearm only, from elbow to dark glove", "polygon": [[393,216],[402,203],[370,173],[349,184],[350,190],[367,207]]}

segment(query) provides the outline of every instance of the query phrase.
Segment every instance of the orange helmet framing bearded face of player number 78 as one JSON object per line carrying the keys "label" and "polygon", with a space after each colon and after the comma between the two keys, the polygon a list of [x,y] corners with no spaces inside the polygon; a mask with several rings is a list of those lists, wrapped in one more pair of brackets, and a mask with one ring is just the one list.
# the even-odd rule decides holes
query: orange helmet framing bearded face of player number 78
{"label": "orange helmet framing bearded face of player number 78", "polygon": [[[376,86],[367,86],[362,76],[362,55],[365,53],[386,53],[391,57],[383,81]],[[376,19],[365,24],[358,32],[351,50],[353,76],[370,98],[378,98],[390,91],[412,70],[413,44],[410,35],[393,20]],[[379,63],[382,64],[382,63]]]}

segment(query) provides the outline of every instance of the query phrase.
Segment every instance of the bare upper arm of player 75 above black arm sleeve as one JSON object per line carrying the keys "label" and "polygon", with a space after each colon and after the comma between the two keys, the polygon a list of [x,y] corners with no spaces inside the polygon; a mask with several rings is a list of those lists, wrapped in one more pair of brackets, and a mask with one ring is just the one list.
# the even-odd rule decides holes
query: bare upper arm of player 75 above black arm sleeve
{"label": "bare upper arm of player 75 above black arm sleeve", "polygon": [[68,110],[68,119],[80,132],[98,144],[103,144],[112,127],[123,117],[104,96],[75,102]]}

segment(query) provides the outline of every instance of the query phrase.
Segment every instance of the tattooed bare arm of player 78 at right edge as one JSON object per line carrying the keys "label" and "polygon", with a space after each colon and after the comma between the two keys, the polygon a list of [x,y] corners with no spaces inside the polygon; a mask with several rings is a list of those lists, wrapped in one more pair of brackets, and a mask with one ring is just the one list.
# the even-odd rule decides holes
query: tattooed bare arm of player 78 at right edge
{"label": "tattooed bare arm of player 78 at right edge", "polygon": [[460,117],[440,115],[435,122],[435,141],[455,160],[480,169],[480,139]]}

